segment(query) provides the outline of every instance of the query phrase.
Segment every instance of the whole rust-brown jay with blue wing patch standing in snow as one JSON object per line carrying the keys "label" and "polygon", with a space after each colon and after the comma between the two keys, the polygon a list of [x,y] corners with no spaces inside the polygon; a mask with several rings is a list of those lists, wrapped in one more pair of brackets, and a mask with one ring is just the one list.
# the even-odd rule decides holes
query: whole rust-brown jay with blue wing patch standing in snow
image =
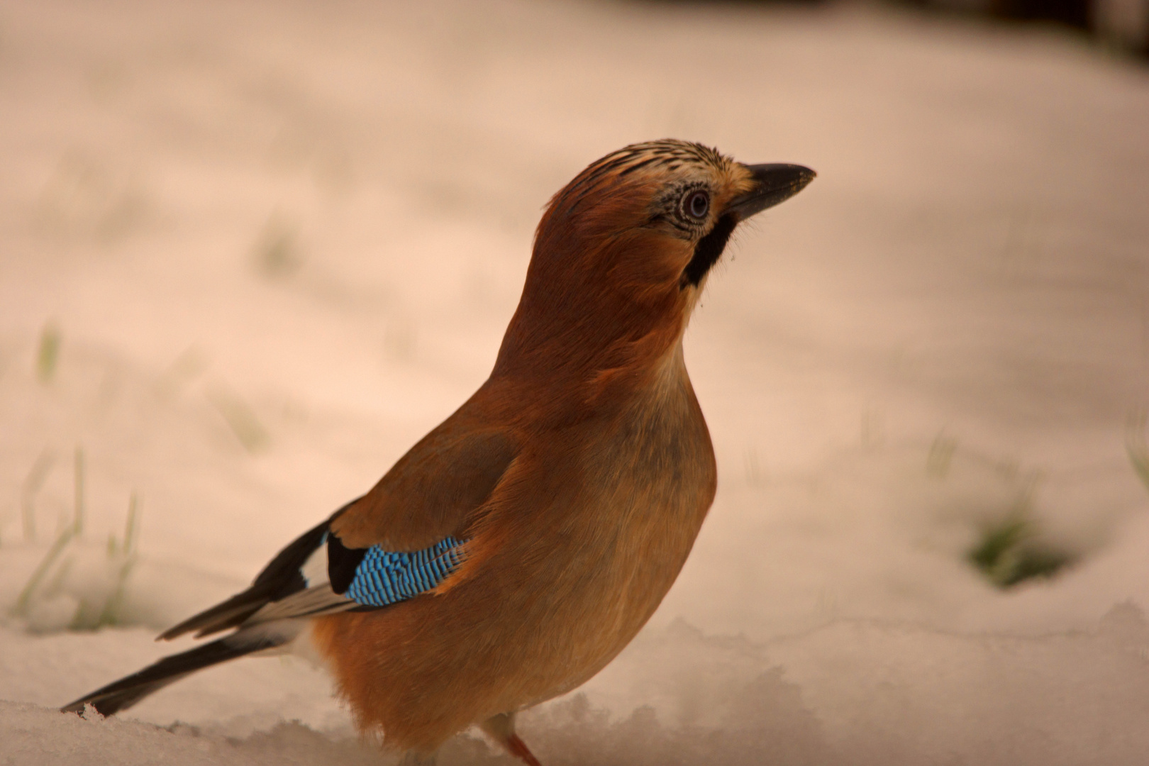
{"label": "whole rust-brown jay with blue wing patch standing in snow", "polygon": [[109,715],[190,673],[294,650],[411,763],[606,666],[657,609],[717,485],[683,333],[739,223],[815,177],[678,140],[549,202],[491,377],[252,586],[160,639],[231,630],[65,705]]}

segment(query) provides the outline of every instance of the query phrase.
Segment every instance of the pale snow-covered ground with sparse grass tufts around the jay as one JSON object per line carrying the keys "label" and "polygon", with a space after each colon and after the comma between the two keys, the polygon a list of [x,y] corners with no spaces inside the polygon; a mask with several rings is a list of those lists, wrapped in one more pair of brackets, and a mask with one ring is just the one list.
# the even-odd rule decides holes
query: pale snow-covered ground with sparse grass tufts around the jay
{"label": "pale snow-covered ground with sparse grass tufts around the jay", "polygon": [[[1149,72],[873,8],[509,0],[0,6],[0,761],[380,763],[294,660],[54,707],[450,412],[548,196],[664,136],[818,179],[688,333],[720,474],[691,562],[524,738],[1144,764]],[[1069,564],[996,588],[995,533],[998,577]]]}

